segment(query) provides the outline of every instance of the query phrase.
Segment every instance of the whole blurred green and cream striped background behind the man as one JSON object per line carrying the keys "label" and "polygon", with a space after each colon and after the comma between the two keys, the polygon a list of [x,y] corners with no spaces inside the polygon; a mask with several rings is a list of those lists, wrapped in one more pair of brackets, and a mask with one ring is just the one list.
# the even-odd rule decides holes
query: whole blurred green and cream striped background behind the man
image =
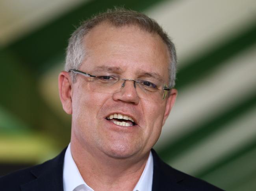
{"label": "whole blurred green and cream striped background behind the man", "polygon": [[114,5],[155,18],[176,44],[179,93],[161,158],[222,189],[255,190],[255,0],[1,0],[0,176],[67,146],[57,82],[67,40]]}

